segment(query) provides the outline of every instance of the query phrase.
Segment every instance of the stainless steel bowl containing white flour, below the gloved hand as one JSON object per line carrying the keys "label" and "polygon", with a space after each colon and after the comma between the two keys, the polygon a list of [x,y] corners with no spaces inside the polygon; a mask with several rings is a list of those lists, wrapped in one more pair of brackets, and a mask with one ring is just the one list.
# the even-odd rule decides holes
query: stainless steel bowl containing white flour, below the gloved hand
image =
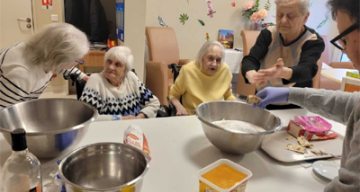
{"label": "stainless steel bowl containing white flour, below the gloved hand", "polygon": [[[269,111],[237,101],[213,101],[200,104],[196,114],[209,141],[221,151],[245,154],[256,150],[266,134],[281,129],[281,121]],[[244,133],[225,129],[212,122],[239,120],[265,129],[263,132]]]}

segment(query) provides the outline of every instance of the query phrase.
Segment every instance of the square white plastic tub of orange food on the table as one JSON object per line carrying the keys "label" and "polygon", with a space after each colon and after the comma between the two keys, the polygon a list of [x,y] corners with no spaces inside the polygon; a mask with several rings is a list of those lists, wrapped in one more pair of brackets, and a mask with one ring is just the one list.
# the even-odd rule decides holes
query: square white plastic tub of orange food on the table
{"label": "square white plastic tub of orange food on the table", "polygon": [[199,192],[244,192],[250,170],[227,159],[220,159],[200,170]]}

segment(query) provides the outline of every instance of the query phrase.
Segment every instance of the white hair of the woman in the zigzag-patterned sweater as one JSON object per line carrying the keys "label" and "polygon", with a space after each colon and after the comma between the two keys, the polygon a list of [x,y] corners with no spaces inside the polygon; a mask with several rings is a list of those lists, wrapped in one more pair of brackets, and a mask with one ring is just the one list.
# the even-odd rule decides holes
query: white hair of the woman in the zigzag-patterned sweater
{"label": "white hair of the woman in the zigzag-patterned sweater", "polygon": [[132,55],[130,48],[126,46],[116,46],[110,48],[105,53],[104,62],[108,59],[125,64],[125,73],[129,72],[129,70],[133,68],[134,56]]}

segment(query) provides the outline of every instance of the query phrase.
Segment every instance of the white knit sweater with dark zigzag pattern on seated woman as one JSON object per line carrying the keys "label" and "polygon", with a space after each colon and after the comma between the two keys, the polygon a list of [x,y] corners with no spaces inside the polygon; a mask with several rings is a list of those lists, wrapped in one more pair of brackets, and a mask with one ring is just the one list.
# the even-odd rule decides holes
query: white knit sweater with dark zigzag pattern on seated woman
{"label": "white knit sweater with dark zigzag pattern on seated woman", "polygon": [[118,87],[110,84],[102,73],[92,74],[80,100],[103,115],[136,116],[141,112],[150,118],[156,116],[160,107],[158,98],[131,71]]}

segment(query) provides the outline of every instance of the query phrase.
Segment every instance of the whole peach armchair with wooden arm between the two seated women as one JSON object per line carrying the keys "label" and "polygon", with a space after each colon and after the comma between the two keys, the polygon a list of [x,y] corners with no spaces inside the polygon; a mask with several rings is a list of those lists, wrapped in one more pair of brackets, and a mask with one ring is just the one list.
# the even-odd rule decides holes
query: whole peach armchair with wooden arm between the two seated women
{"label": "whole peach armchair with wooden arm between the two seated women", "polygon": [[146,63],[146,87],[168,105],[169,88],[173,83],[172,64],[183,65],[188,59],[180,59],[179,46],[171,27],[146,27],[149,61]]}

